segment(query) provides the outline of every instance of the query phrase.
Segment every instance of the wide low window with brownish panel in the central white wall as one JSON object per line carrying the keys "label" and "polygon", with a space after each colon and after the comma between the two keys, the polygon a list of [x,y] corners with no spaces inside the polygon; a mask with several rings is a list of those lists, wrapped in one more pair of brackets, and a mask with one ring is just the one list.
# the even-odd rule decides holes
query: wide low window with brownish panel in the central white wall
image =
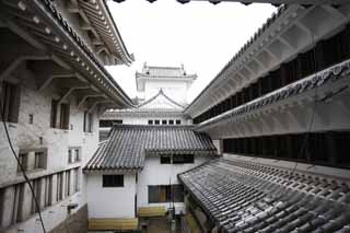
{"label": "wide low window with brownish panel in the central white wall", "polygon": [[184,202],[182,185],[149,186],[149,203]]}

